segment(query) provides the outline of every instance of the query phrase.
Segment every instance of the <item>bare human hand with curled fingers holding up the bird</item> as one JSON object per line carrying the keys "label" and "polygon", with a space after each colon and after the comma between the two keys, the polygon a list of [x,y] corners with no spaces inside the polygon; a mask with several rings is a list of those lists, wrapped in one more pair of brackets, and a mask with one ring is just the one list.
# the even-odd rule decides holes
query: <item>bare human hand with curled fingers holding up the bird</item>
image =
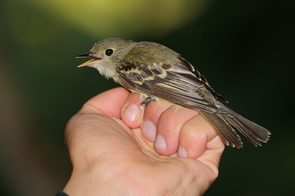
{"label": "bare human hand with curled fingers holding up the bird", "polygon": [[69,120],[73,172],[64,192],[202,195],[209,188],[225,147],[210,124],[195,110],[140,102],[138,94],[115,88],[91,98]]}

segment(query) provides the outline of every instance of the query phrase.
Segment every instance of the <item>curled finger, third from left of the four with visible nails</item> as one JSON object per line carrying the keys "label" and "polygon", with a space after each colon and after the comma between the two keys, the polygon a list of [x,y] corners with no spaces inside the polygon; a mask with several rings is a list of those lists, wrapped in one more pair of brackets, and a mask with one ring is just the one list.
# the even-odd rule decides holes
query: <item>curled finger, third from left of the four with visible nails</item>
{"label": "curled finger, third from left of the four with visible nails", "polygon": [[165,156],[174,154],[178,150],[181,127],[198,114],[196,110],[188,108],[177,110],[175,106],[165,110],[158,120],[155,150]]}

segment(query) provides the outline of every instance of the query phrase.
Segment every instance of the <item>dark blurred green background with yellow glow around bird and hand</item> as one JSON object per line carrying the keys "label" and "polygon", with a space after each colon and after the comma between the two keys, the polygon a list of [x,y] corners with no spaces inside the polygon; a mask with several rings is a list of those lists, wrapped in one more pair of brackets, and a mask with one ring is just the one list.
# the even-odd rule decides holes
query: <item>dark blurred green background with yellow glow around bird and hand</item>
{"label": "dark blurred green background with yellow glow around bird and hand", "polygon": [[290,195],[294,1],[0,1],[0,195],[54,195],[71,175],[64,128],[117,87],[75,59],[109,37],[180,53],[270,141],[227,147],[205,195]]}

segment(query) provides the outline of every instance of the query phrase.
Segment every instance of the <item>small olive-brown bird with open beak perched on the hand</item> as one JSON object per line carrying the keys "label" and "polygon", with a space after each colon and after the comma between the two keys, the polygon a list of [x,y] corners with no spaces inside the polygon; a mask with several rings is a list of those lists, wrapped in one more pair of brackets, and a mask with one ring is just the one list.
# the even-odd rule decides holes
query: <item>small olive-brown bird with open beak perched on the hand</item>
{"label": "small olive-brown bird with open beak perched on the hand", "polygon": [[270,132],[240,116],[219,102],[228,103],[207,80],[178,53],[153,42],[132,42],[110,38],[94,44],[76,58],[91,60],[78,67],[94,67],[107,79],[139,93],[145,100],[169,101],[199,111],[228,146],[243,146],[237,128],[254,146],[267,142]]}

